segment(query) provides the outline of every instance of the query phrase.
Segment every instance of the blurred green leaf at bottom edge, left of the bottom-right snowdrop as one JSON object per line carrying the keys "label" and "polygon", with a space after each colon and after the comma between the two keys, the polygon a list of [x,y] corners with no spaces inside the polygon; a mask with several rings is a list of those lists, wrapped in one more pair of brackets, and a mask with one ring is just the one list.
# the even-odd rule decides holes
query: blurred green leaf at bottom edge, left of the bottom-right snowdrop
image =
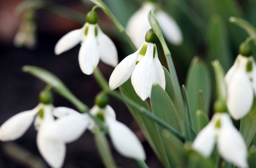
{"label": "blurred green leaf at bottom edge, left of the bottom-right snowdrop", "polygon": [[162,137],[164,144],[166,144],[166,151],[170,154],[176,167],[185,167],[186,157],[183,143],[166,129],[162,131]]}

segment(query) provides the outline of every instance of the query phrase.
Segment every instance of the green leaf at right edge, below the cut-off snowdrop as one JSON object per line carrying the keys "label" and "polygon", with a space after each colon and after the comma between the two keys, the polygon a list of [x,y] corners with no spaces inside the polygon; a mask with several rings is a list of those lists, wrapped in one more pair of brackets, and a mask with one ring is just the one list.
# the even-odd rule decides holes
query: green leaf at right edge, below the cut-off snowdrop
{"label": "green leaf at right edge, below the cut-off snowdrop", "polygon": [[241,119],[240,133],[243,135],[247,147],[249,147],[256,133],[256,99],[253,101],[252,109]]}

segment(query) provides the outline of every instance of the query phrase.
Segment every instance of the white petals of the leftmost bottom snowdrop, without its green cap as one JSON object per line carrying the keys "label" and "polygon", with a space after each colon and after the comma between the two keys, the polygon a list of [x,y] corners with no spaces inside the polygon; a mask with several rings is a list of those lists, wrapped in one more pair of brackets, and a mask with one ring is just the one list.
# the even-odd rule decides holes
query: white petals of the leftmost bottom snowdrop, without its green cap
{"label": "white petals of the leftmost bottom snowdrop, without its green cap", "polygon": [[[61,120],[54,120],[53,110],[54,107],[51,104],[39,104],[32,110],[12,116],[1,125],[0,140],[14,141],[20,138],[37,115],[35,125],[38,128],[36,136],[38,150],[51,167],[62,167],[66,154],[65,143],[73,142],[79,138],[89,123],[84,122],[84,118],[81,116],[80,119],[65,117]],[[69,109],[61,109],[64,112],[67,110]],[[73,132],[74,129],[77,131]]]}

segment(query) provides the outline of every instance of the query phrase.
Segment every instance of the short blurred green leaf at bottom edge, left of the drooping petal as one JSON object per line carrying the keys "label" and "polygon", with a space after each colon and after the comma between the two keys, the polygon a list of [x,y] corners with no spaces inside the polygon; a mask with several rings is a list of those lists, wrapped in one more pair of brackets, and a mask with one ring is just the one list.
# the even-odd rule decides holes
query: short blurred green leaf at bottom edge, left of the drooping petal
{"label": "short blurred green leaf at bottom edge, left of the drooping petal", "polygon": [[117,167],[104,132],[100,130],[94,130],[94,139],[98,148],[99,155],[102,158],[104,165],[107,168]]}

